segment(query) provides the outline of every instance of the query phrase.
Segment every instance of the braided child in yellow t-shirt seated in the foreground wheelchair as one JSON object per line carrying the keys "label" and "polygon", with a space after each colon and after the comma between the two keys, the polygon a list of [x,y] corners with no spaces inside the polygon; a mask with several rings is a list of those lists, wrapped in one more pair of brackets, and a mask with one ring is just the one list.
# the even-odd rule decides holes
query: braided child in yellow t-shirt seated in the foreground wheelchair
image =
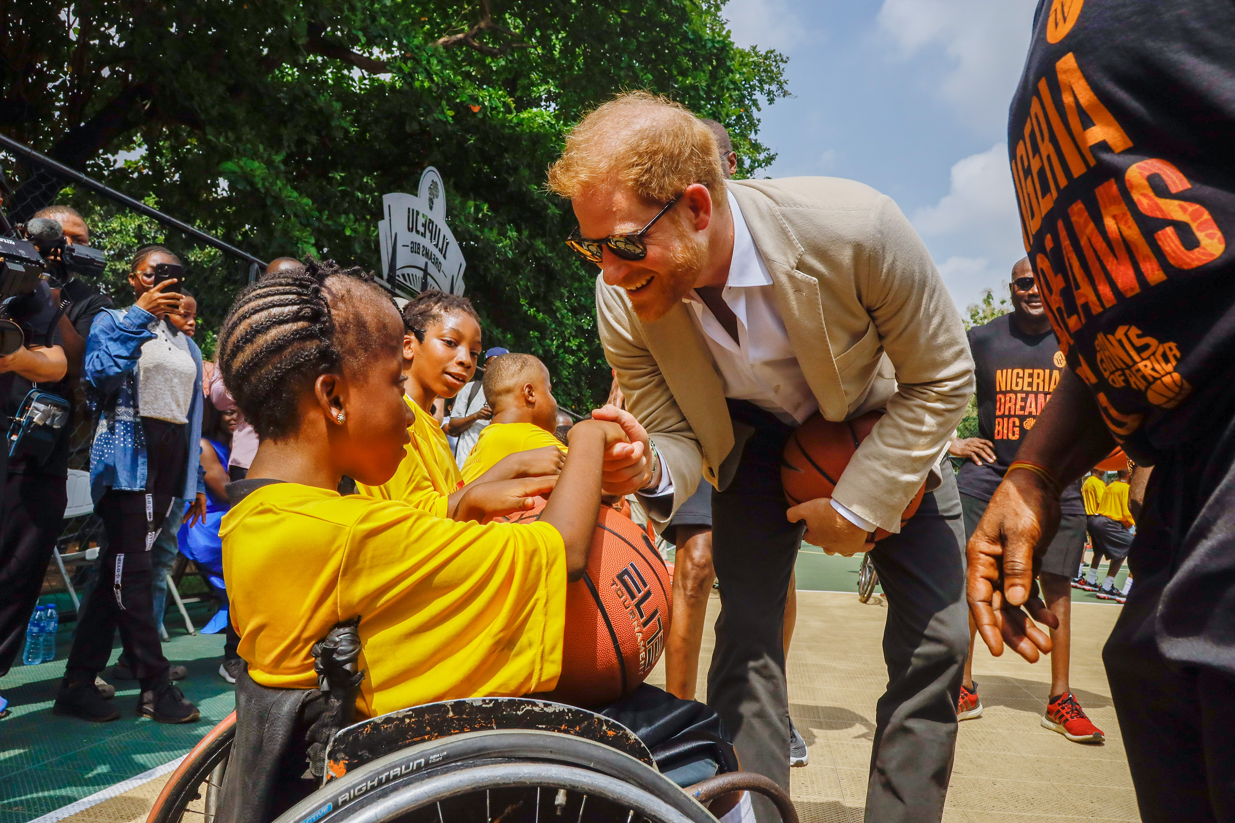
{"label": "braided child in yellow t-shirt seated in the foreground wheelchair", "polygon": [[[261,445],[220,531],[231,619],[248,675],[312,689],[311,645],[359,618],[364,717],[440,700],[555,687],[568,580],[583,575],[606,450],[621,427],[571,429],[559,478],[479,484],[456,517],[494,505],[538,522],[456,522],[399,500],[340,496],[342,475],[382,486],[409,440],[404,323],[359,269],[310,262],[236,299],[219,368]],[[496,500],[504,496],[504,500]]]}

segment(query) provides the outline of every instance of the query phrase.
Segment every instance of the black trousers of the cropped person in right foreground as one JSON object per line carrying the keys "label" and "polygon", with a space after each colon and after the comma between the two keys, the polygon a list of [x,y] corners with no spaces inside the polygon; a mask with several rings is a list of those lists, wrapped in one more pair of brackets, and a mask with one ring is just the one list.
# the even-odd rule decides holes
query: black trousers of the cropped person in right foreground
{"label": "black trousers of the cropped person in right foreground", "polygon": [[1103,649],[1141,819],[1235,821],[1235,421],[1153,466]]}

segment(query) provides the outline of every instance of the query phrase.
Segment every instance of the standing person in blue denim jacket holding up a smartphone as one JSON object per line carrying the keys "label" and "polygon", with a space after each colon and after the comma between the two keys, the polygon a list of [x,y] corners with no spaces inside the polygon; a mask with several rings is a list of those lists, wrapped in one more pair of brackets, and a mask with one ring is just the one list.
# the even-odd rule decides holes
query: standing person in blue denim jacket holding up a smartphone
{"label": "standing person in blue denim jacket holding up a smartphone", "polygon": [[137,714],[191,723],[198,708],[170,680],[152,606],[152,553],[159,532],[177,529],[177,501],[190,524],[205,516],[200,470],[201,352],[168,315],[180,311],[180,259],[162,246],[138,249],[128,283],[136,302],[95,317],[83,380],[96,415],[90,491],[107,532],[101,576],[78,621],[56,714],[105,722],[120,712],[95,687],[115,631],[141,685]]}

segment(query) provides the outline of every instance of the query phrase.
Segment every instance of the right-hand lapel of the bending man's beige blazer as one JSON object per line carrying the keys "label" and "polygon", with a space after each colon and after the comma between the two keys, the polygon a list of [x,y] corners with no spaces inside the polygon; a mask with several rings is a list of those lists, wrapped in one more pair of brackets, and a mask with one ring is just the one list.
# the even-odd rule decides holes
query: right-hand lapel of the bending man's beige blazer
{"label": "right-hand lapel of the bending man's beige blazer", "polygon": [[819,281],[797,269],[802,244],[777,213],[776,205],[757,189],[730,184],[742,217],[772,275],[781,320],[793,342],[798,364],[806,384],[819,401],[827,420],[845,420],[848,402],[836,370],[832,348],[827,339],[827,322],[819,295]]}

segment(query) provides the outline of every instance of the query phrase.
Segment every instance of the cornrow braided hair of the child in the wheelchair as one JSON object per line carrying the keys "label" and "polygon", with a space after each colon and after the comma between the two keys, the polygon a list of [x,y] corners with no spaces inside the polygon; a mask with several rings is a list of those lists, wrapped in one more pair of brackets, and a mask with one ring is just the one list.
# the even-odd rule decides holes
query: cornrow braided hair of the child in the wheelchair
{"label": "cornrow braided hair of the child in the wheelchair", "polygon": [[[342,283],[331,286],[329,279]],[[353,349],[353,344],[366,348],[364,336],[357,333],[364,329],[354,328],[363,326],[363,320],[336,317],[357,313],[338,311],[352,284],[367,284],[390,301],[363,269],[312,259],[303,269],[264,274],[236,296],[219,331],[217,360],[224,385],[259,439],[294,433],[306,384],[337,371],[342,349]],[[333,312],[331,297],[336,302]]]}

